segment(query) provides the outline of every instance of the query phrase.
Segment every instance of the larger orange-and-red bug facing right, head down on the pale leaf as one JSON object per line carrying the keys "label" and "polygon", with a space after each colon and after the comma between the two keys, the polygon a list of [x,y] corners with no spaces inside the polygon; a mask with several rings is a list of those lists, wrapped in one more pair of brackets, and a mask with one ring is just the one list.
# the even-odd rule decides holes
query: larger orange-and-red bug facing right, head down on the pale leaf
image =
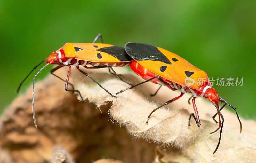
{"label": "larger orange-and-red bug facing right, head down on the pale leaf", "polygon": [[[142,43],[132,43],[129,42],[125,45],[125,50],[132,57],[132,63],[130,64],[130,68],[132,71],[135,72],[135,74],[139,75],[146,81],[141,82],[137,85],[131,86],[129,88],[123,89],[120,92],[116,93],[118,95],[119,93],[122,93],[128,89],[133,89],[134,87],[137,87],[143,83],[146,82],[153,82],[155,84],[165,85],[171,90],[178,90],[181,89],[181,94],[178,97],[175,97],[169,101],[166,101],[163,105],[157,107],[154,109],[149,115],[148,120],[152,113],[154,113],[157,109],[161,108],[164,105],[168,105],[173,101],[178,100],[180,97],[184,95],[184,93],[192,93],[193,99],[192,104],[194,108],[194,113],[190,114],[189,117],[189,126],[190,126],[190,119],[193,116],[197,126],[199,127],[200,120],[196,108],[195,99],[197,97],[204,97],[208,99],[210,102],[213,103],[213,105],[217,109],[217,113],[212,117],[213,119],[218,114],[219,116],[219,127],[213,131],[212,133],[215,133],[220,129],[220,137],[219,142],[217,144],[217,147],[213,154],[217,151],[220,140],[221,140],[221,133],[224,123],[223,115],[221,114],[221,109],[225,107],[225,105],[229,105],[232,109],[235,110],[237,118],[240,123],[240,133],[242,131],[242,123],[239,119],[239,116],[237,114],[236,108],[232,105],[230,105],[226,100],[221,98],[218,93],[216,92],[215,88],[212,88],[212,85],[210,81],[208,80],[207,74],[190,64],[185,59],[181,58],[180,56],[169,52],[165,49],[142,44]],[[203,82],[201,85],[198,85],[199,79],[206,79],[205,82]],[[224,105],[219,108],[219,102],[224,103]],[[222,119],[222,123],[221,123]],[[217,123],[217,121],[214,119],[214,121]],[[210,134],[212,134],[210,133]]]}

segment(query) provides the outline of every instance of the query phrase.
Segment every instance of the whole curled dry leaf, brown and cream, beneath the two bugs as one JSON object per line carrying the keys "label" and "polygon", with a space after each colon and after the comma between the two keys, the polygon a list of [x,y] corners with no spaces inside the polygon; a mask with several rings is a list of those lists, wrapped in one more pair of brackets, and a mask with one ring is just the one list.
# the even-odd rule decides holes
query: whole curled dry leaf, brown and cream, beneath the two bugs
{"label": "whole curled dry leaf, brown and cream, beneath the two bugs", "polygon": [[[115,68],[118,74],[124,68]],[[107,70],[85,70],[112,94],[128,87]],[[66,77],[67,69],[58,70]],[[132,74],[122,76],[132,83],[141,80]],[[157,85],[147,83],[118,95],[109,96],[88,77],[72,71],[72,82],[84,98],[92,102],[79,102],[76,94],[64,90],[64,82],[54,76],[36,83],[35,109],[38,128],[34,127],[31,99],[32,89],[18,97],[1,118],[0,146],[14,162],[46,162],[52,159],[52,149],[61,145],[75,162],[89,162],[100,158],[118,159],[124,162],[253,162],[256,158],[256,123],[241,119],[243,131],[239,134],[239,123],[234,113],[223,109],[225,118],[222,140],[218,151],[219,132],[209,133],[217,128],[211,119],[216,109],[201,97],[196,104],[201,127],[194,121],[188,126],[188,117],[193,108],[188,104],[190,95],[148,114],[159,104],[179,95],[167,88],[161,88],[156,97],[150,97]],[[78,97],[80,99],[80,97]],[[111,102],[112,101],[112,106]],[[94,105],[95,104],[95,105]],[[96,108],[100,107],[100,110]],[[239,109],[238,113],[239,113]],[[109,122],[110,119],[120,125]],[[249,127],[250,128],[249,128]],[[132,139],[127,131],[137,139]],[[141,139],[140,139],[141,138]],[[156,144],[147,139],[165,144],[156,149]]]}

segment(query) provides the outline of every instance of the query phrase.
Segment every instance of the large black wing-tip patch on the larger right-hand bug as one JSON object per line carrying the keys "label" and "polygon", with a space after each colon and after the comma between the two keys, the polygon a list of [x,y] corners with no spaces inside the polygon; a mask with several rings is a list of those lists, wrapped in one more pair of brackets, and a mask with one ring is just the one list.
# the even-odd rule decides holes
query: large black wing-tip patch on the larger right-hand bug
{"label": "large black wing-tip patch on the larger right-hand bug", "polygon": [[172,64],[171,61],[157,49],[157,47],[143,43],[127,43],[126,52],[136,61],[153,60]]}

